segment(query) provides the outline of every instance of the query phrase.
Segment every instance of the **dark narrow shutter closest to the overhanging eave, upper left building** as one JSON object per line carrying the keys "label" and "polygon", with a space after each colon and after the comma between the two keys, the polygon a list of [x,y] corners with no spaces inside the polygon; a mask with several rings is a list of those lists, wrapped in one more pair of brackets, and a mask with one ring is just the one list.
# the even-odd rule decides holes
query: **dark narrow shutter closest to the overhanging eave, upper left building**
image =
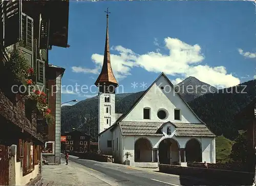
{"label": "dark narrow shutter closest to the overhanging eave, upper left building", "polygon": [[50,19],[40,21],[39,49],[48,49],[49,46]]}

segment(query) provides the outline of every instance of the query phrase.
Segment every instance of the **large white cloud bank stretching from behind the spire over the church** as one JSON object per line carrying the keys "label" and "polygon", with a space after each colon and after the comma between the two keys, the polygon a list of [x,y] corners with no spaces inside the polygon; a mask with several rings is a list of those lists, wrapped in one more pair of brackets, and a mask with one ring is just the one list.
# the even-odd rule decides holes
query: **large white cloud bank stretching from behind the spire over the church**
{"label": "large white cloud bank stretching from behind the spire over the church", "polygon": [[[182,79],[194,76],[200,81],[213,86],[229,87],[237,85],[240,80],[232,74],[228,74],[225,66],[209,66],[200,64],[204,59],[199,44],[190,45],[177,38],[167,37],[164,39],[167,54],[158,52],[148,52],[146,54],[136,54],[131,49],[126,49],[121,45],[111,49],[118,53],[111,54],[111,64],[117,79],[131,75],[131,69],[135,66],[144,68],[148,72],[164,72],[170,76],[180,76],[173,82],[177,84]],[[155,39],[154,44],[158,44]],[[93,73],[98,72],[103,63],[103,55],[93,54],[92,60],[96,65],[95,69],[82,67],[72,67],[76,72]]]}

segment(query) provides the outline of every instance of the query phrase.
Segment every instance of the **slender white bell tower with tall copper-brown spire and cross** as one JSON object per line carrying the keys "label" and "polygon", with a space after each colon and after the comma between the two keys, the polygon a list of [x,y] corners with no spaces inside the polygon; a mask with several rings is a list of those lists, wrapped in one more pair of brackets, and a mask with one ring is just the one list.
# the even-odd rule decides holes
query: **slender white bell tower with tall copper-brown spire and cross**
{"label": "slender white bell tower with tall copper-brown spire and cross", "polygon": [[115,90],[118,86],[113,74],[110,61],[109,47],[109,8],[106,9],[106,39],[103,65],[101,73],[95,82],[99,88],[98,95],[98,133],[113,125],[116,121],[115,115]]}

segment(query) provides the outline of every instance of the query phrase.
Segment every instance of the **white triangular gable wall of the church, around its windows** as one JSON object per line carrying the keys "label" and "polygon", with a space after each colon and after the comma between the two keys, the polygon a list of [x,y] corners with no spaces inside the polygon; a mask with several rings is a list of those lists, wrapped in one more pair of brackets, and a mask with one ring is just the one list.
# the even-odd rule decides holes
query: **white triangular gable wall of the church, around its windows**
{"label": "white triangular gable wall of the church, around its windows", "polygon": [[[161,86],[165,87],[165,91],[161,90]],[[167,93],[166,93],[167,92]],[[168,93],[169,92],[169,93]],[[151,119],[143,119],[143,108],[151,108]],[[181,120],[174,120],[174,109],[181,110]],[[165,120],[160,120],[157,117],[159,109],[168,111],[168,117]],[[161,76],[158,81],[148,90],[147,94],[141,101],[133,108],[133,110],[123,119],[123,121],[154,121],[154,122],[182,122],[182,123],[201,123],[193,112],[187,107],[183,100],[174,88],[170,87],[168,81]]]}

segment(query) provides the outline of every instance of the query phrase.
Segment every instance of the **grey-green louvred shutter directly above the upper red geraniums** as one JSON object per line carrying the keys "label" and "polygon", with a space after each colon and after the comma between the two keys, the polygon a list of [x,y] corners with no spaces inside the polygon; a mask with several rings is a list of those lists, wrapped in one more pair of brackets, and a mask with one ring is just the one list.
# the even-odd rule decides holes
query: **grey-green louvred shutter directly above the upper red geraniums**
{"label": "grey-green louvred shutter directly above the upper red geraniums", "polygon": [[34,65],[34,21],[28,15],[22,13],[22,42],[20,49],[23,51],[31,67]]}

